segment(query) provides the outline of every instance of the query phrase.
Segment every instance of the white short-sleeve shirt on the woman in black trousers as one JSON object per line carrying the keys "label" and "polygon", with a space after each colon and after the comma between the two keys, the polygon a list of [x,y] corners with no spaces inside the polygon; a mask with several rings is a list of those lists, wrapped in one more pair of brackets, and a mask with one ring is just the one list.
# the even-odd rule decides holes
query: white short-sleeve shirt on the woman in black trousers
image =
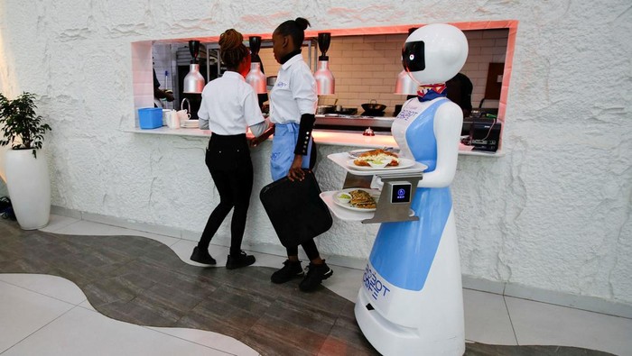
{"label": "white short-sleeve shirt on the woman in black trousers", "polygon": [[248,126],[264,122],[255,90],[244,77],[227,71],[220,78],[211,80],[202,90],[200,128],[220,135],[246,133]]}

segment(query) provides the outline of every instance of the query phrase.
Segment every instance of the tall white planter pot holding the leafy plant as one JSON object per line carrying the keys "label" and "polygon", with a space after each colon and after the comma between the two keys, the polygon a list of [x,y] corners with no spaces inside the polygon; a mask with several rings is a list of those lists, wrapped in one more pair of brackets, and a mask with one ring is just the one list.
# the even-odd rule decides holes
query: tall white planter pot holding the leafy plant
{"label": "tall white planter pot holding the leafy plant", "polygon": [[46,155],[37,150],[8,150],[5,154],[6,187],[17,222],[24,230],[46,226],[51,217],[51,179]]}

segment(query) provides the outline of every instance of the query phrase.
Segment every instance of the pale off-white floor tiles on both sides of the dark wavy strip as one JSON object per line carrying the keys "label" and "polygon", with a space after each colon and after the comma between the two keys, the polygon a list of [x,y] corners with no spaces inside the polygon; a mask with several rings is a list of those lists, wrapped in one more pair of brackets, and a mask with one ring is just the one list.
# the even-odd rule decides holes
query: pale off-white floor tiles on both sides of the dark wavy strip
{"label": "pale off-white floor tiles on both sides of the dark wavy strip", "polygon": [[[169,246],[188,260],[196,242],[53,215],[42,229],[51,233],[137,235]],[[228,249],[211,246],[218,265]],[[279,256],[256,253],[259,266],[278,267]],[[0,256],[1,258],[2,256]],[[335,267],[326,287],[354,301],[362,271]],[[590,313],[476,290],[463,290],[465,335],[469,342],[497,345],[573,346],[632,355],[632,319]],[[0,274],[0,354],[5,355],[257,355],[236,339],[185,328],[149,327],[99,314],[68,279],[37,274]],[[515,353],[504,349],[495,354]],[[585,350],[566,349],[568,354]],[[577,353],[573,353],[577,352]],[[472,353],[484,354],[484,353]],[[539,354],[538,351],[528,354]],[[559,353],[546,353],[559,354]]]}

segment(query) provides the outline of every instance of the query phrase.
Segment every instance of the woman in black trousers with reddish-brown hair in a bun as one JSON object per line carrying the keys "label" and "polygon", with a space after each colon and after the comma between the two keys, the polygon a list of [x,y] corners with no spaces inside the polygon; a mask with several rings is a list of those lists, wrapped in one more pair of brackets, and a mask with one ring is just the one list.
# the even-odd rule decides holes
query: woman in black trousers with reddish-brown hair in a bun
{"label": "woman in black trousers with reddish-brown hair in a bun", "polygon": [[216,264],[209,253],[210,239],[234,208],[227,269],[255,263],[255,256],[241,250],[253,187],[253,165],[246,130],[250,127],[255,136],[260,136],[268,127],[259,109],[256,93],[244,79],[250,70],[250,51],[243,40],[242,34],[234,29],[219,36],[221,60],[228,69],[221,78],[211,80],[204,87],[198,112],[200,129],[212,132],[206,150],[206,165],[218,189],[219,204],[210,214],[191,260]]}

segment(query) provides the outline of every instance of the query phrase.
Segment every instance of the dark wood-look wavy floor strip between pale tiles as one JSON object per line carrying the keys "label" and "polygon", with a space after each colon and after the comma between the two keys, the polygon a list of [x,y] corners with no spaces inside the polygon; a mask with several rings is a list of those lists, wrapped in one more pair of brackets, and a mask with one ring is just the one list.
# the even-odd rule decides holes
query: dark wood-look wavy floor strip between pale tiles
{"label": "dark wood-look wavy floor strip between pale tiles", "polygon": [[[23,231],[0,221],[0,273],[70,279],[101,314],[127,323],[188,327],[234,337],[263,355],[377,355],[353,303],[327,288],[274,285],[274,269],[200,268],[139,236]],[[559,346],[468,343],[466,355],[608,355]]]}

